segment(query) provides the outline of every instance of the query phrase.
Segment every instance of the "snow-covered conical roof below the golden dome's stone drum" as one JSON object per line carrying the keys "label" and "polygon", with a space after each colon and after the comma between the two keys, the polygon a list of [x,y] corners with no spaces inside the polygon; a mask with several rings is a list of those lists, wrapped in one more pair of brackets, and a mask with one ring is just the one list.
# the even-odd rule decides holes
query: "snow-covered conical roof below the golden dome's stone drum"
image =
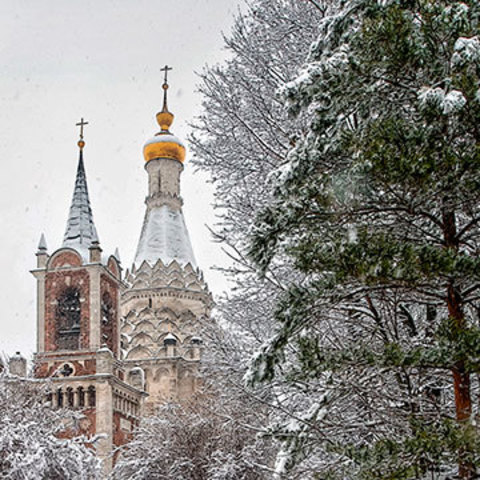
{"label": "snow-covered conical roof below the golden dome's stone drum", "polygon": [[176,260],[181,266],[196,267],[190,237],[181,210],[168,205],[148,209],[138,242],[135,265],[146,261],[155,265],[158,260],[169,265]]}

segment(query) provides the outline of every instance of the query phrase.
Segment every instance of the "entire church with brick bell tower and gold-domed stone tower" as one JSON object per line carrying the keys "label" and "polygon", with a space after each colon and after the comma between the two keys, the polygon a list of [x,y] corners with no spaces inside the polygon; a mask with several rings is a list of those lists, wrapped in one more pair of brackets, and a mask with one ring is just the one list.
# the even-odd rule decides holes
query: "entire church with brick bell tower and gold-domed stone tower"
{"label": "entire church with brick bell tower and gold-domed stone tower", "polygon": [[135,260],[124,270],[118,251],[102,251],[93,220],[78,124],[79,159],[63,243],[48,252],[42,235],[37,267],[36,378],[48,379],[52,408],[81,412],[66,435],[97,436],[107,475],[116,448],[143,415],[196,391],[201,325],[212,295],[197,267],[182,213],[185,146],[170,132],[167,72],[160,131],[143,148],[146,211]]}

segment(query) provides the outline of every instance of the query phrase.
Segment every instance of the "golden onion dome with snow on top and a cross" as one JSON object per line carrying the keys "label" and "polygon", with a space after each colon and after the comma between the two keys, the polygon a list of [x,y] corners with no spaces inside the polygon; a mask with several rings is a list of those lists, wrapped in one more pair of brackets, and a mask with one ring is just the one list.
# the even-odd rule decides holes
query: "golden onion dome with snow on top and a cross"
{"label": "golden onion dome with snow on top and a cross", "polygon": [[163,108],[157,113],[157,122],[160,131],[153,138],[148,140],[143,147],[145,161],[149,162],[154,158],[171,158],[183,163],[185,160],[185,145],[175,135],[170,133],[170,126],[173,123],[173,113],[167,107],[167,70],[165,70],[165,81],[163,88]]}

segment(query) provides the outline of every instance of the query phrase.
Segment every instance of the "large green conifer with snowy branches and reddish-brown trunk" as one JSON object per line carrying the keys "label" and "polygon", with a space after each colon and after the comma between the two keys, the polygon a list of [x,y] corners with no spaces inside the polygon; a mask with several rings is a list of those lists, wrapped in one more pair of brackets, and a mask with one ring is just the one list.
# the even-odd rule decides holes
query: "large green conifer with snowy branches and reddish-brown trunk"
{"label": "large green conifer with snowy branches and reddish-brown trunk", "polygon": [[315,445],[319,478],[446,478],[456,462],[474,478],[480,5],[338,3],[283,89],[312,121],[251,255],[263,270],[290,258],[306,278],[279,303],[254,379],[287,368],[327,392],[286,437],[287,464]]}

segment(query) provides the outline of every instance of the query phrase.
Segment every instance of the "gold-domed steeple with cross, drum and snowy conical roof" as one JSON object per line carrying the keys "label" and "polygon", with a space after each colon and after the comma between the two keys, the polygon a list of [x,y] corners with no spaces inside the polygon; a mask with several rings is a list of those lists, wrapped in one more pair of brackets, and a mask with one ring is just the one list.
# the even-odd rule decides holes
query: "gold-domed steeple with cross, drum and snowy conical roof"
{"label": "gold-domed steeple with cross, drum and snowy conical roof", "polygon": [[185,160],[185,147],[169,128],[173,114],[167,107],[167,73],[165,66],[163,108],[157,113],[158,132],[145,144],[143,153],[148,173],[147,211],[138,242],[135,264],[143,261],[152,266],[158,261],[166,265],[176,260],[180,265],[196,266],[192,245],[182,212],[180,174]]}

